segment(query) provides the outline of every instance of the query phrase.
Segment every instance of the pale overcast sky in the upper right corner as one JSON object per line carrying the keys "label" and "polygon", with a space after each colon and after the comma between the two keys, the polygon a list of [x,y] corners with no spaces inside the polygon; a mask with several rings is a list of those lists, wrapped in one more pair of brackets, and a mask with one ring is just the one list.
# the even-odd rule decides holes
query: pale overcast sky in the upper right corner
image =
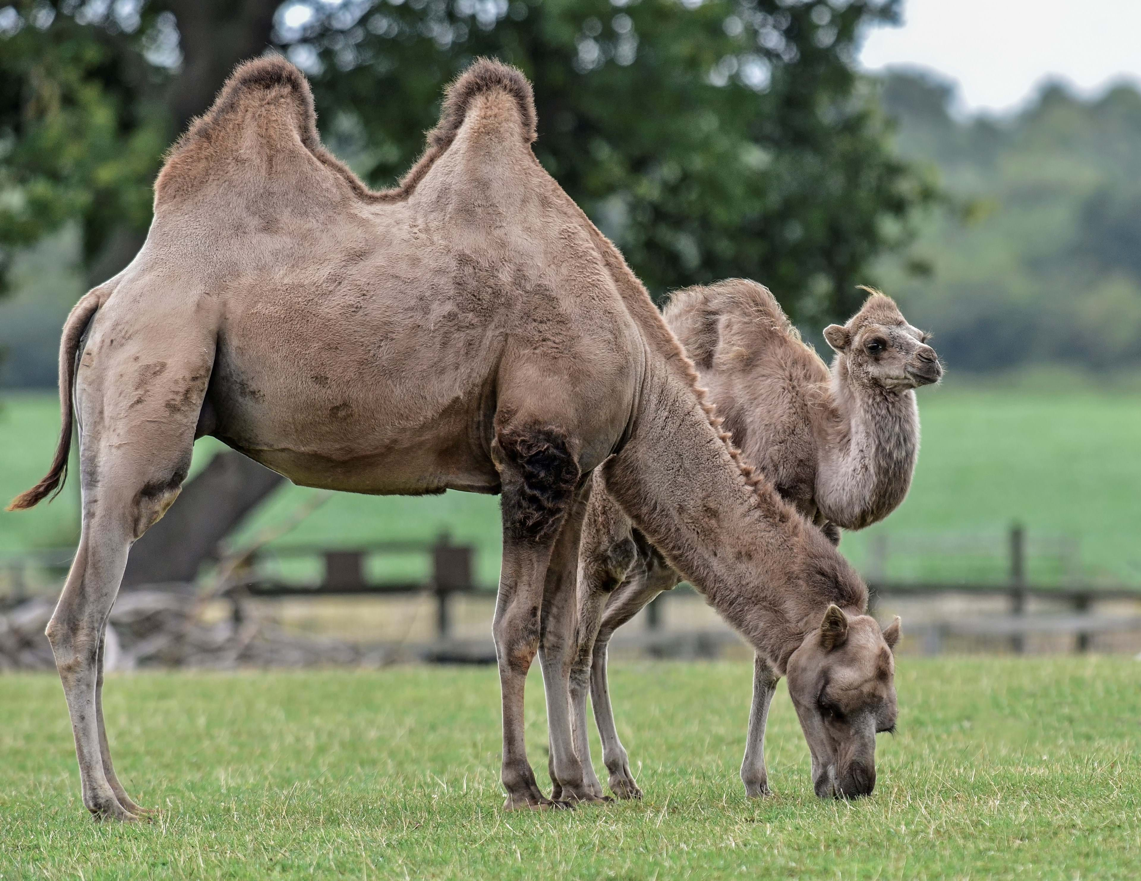
{"label": "pale overcast sky in the upper right corner", "polygon": [[1017,107],[1051,78],[1098,94],[1141,83],[1141,0],[904,0],[903,26],[869,32],[860,60],[938,71],[966,111]]}

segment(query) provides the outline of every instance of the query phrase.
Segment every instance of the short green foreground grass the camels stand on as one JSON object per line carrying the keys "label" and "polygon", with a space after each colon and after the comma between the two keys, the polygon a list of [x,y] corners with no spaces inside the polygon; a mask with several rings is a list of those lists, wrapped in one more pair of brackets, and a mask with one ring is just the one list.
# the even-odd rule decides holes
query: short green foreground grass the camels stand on
{"label": "short green foreground grass the camels stand on", "polygon": [[[80,802],[56,678],[0,677],[0,878],[1132,879],[1138,670],[901,661],[899,733],[880,737],[875,794],[848,803],[812,795],[783,687],[777,794],[745,799],[750,665],[618,665],[645,799],[553,814],[500,810],[491,669],[112,677],[120,775],[164,809],[129,826]],[[533,677],[545,786],[540,690]]]}

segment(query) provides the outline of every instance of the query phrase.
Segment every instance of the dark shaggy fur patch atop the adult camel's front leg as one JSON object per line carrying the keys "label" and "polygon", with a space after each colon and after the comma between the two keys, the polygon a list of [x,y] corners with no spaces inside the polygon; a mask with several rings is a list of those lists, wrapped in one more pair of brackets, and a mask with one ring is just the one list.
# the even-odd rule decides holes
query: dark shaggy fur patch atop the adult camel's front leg
{"label": "dark shaggy fur patch atop the adult camel's front leg", "polygon": [[578,463],[566,438],[549,428],[533,428],[496,439],[518,472],[518,479],[503,485],[503,536],[536,544],[553,541],[578,484]]}

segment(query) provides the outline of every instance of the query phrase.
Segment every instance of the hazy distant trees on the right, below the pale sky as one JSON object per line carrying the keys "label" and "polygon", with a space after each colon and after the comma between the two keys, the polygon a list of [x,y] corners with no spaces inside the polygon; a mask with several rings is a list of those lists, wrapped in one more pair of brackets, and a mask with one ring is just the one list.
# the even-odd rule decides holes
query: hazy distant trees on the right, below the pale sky
{"label": "hazy distant trees on the right, below the pale sky", "polygon": [[[1141,94],[1083,99],[1049,86],[1005,119],[958,119],[954,89],[891,74],[899,146],[932,161],[961,217],[933,215],[915,245],[929,280],[892,282],[952,369],[1141,364]],[[890,280],[897,275],[889,267]]]}

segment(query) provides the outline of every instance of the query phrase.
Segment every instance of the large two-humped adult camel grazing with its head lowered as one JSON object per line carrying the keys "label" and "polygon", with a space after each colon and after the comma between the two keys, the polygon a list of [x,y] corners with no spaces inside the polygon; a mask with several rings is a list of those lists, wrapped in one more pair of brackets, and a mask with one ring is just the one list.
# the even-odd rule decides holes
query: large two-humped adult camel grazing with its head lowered
{"label": "large two-humped adult camel grazing with its head lowered", "polygon": [[[67,318],[55,460],[13,503],[62,485],[74,414],[82,532],[47,632],[96,817],[143,813],[111,761],[103,639],[128,550],[173,502],[203,435],[308,486],[502,494],[493,630],[509,808],[552,805],[524,746],[536,653],[556,786],[597,800],[568,687],[578,538],[600,466],[671,564],[733,598],[758,650],[783,669],[799,635],[799,700],[858,682],[847,700],[891,725],[890,652],[857,616],[864,584],[743,468],[645,288],[539,164],[534,139],[529,83],[480,60],[450,87],[399,186],[373,192],[321,145],[305,76],[268,57],[241,65],[175,145],[143,249]],[[747,614],[772,583],[788,597],[775,624]],[[830,650],[832,603],[860,635],[843,650]],[[823,710],[803,724],[818,737]],[[869,791],[874,735],[835,738]]]}

